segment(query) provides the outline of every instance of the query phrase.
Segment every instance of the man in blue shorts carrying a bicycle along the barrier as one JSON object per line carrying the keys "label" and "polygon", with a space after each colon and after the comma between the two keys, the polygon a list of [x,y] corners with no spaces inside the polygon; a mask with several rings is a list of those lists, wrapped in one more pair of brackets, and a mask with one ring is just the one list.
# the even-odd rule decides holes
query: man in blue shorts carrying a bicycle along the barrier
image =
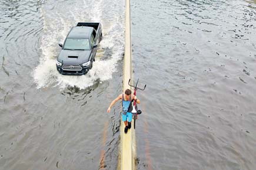
{"label": "man in blue shorts carrying a bicycle along the barrier", "polygon": [[[132,91],[127,89],[125,90],[124,94],[120,94],[117,98],[115,98],[115,100],[113,100],[111,102],[111,104],[108,107],[108,113],[111,110],[111,107],[118,101],[118,100],[122,100],[122,121],[124,121],[124,132],[127,133],[128,128],[131,128],[131,121],[132,121],[132,100],[135,100],[136,103],[141,103],[141,101],[139,101],[137,99],[136,96],[134,96],[132,94]],[[128,120],[128,122],[127,122]]]}

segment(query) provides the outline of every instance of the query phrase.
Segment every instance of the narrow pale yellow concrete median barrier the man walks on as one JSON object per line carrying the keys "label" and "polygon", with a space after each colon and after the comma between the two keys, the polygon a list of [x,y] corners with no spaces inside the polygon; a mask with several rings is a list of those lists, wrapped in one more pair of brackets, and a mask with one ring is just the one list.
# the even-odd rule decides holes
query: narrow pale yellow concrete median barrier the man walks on
{"label": "narrow pale yellow concrete median barrier the man walks on", "polygon": [[[130,21],[130,2],[126,0],[125,9],[125,55],[124,55],[124,77],[123,91],[131,89],[128,86],[129,79],[132,80],[132,57],[131,57],[131,21]],[[133,128],[124,133],[124,123],[121,121],[121,170],[134,170],[136,157],[135,130]],[[118,166],[119,167],[119,166]],[[119,169],[119,168],[118,168]]]}

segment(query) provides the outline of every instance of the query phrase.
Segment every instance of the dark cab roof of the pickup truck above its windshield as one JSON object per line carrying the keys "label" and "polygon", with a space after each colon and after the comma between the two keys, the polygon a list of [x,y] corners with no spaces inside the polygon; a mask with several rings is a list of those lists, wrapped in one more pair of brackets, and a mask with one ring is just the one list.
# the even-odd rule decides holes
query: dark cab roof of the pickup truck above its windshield
{"label": "dark cab roof of the pickup truck above its windshield", "polygon": [[93,30],[94,28],[88,26],[75,26],[71,29],[67,38],[89,38]]}

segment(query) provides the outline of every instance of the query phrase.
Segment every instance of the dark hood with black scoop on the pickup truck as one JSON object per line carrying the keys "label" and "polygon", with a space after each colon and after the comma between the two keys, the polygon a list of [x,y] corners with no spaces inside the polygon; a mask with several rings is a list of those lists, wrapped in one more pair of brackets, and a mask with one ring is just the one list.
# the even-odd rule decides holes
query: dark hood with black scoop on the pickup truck
{"label": "dark hood with black scoop on the pickup truck", "polygon": [[62,63],[82,64],[88,62],[90,50],[61,50],[58,61]]}

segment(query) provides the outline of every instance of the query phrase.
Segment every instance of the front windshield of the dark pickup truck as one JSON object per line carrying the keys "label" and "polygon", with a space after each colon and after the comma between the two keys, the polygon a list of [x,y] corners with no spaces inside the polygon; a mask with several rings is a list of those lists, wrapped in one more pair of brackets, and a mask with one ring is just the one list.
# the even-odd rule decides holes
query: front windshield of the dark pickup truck
{"label": "front windshield of the dark pickup truck", "polygon": [[89,39],[68,38],[65,42],[64,49],[67,50],[89,50]]}

